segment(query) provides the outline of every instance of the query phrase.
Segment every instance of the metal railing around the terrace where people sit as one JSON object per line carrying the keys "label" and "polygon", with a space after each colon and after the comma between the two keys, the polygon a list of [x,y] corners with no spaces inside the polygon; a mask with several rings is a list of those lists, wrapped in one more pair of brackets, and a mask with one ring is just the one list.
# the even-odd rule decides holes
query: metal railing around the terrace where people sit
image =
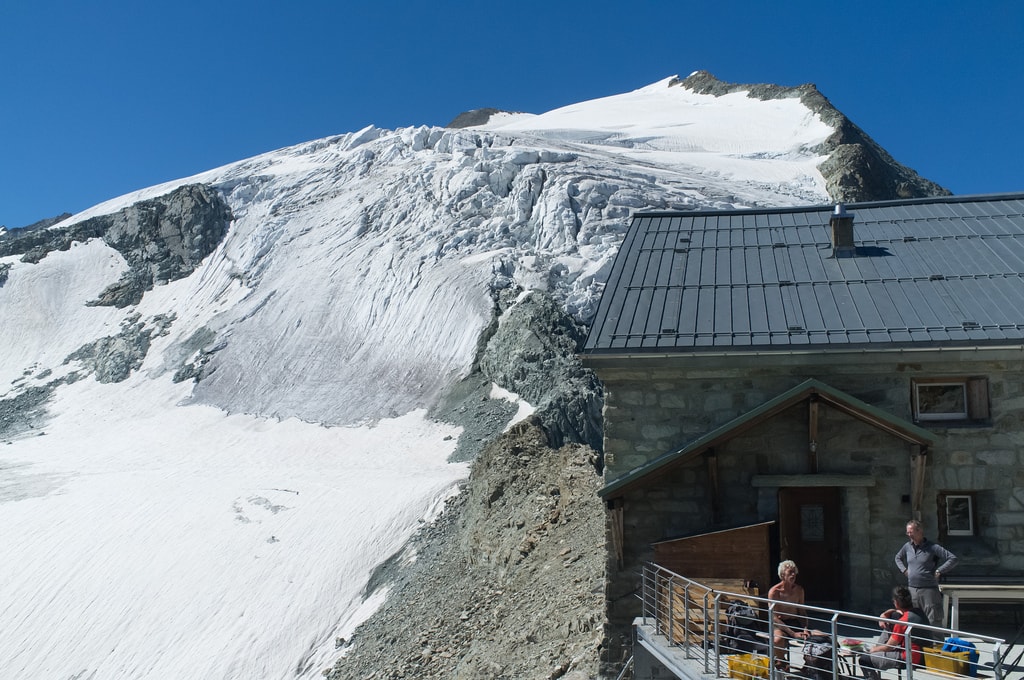
{"label": "metal railing around the terrace where people sit", "polygon": [[[681,651],[686,664],[694,664],[703,674],[715,677],[845,680],[862,676],[871,644],[884,640],[883,626],[891,625],[890,620],[882,617],[806,605],[803,610],[807,630],[815,635],[820,633],[814,638],[819,646],[812,648],[803,639],[775,635],[775,609],[785,603],[739,592],[738,588],[736,592],[722,587],[716,590],[710,583],[648,563],[643,569],[638,596],[642,600],[643,626],[655,635],[653,639]],[[737,601],[748,603],[755,615],[737,615],[742,610],[736,606],[730,621],[727,612]],[[782,640],[780,645],[776,644],[777,637]],[[945,651],[942,647],[949,638],[969,638],[975,649],[959,653]],[[899,675],[905,680],[915,677],[968,680],[976,676],[979,668],[995,680],[1009,678],[1004,671],[1006,641],[1001,638],[908,623],[903,640],[901,658],[879,662],[871,655],[866,660],[867,665],[883,674],[891,670],[891,676]],[[819,654],[808,653],[813,651]],[[799,664],[781,668],[792,658]],[[777,660],[778,664],[771,660]],[[801,664],[802,668],[798,668]]]}

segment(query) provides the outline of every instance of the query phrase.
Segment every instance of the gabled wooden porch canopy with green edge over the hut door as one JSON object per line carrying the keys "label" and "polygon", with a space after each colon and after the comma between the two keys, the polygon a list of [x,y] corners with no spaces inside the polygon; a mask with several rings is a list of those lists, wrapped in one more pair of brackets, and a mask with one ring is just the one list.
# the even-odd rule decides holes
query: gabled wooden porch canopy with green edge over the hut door
{"label": "gabled wooden porch canopy with green edge over the hut door", "polygon": [[[756,425],[774,418],[801,401],[808,401],[809,405],[808,457],[809,467],[812,472],[817,471],[817,409],[819,403],[825,403],[868,425],[899,437],[910,444],[910,496],[914,513],[920,513],[921,497],[925,480],[925,458],[928,454],[929,444],[935,440],[935,435],[928,430],[918,427],[913,423],[896,418],[882,409],[872,407],[855,396],[830,387],[814,378],[805,380],[778,396],[765,401],[753,411],[711,430],[682,449],[664,454],[646,465],[635,468],[617,479],[613,479],[598,494],[601,498],[609,501],[610,506],[612,505],[611,501],[614,499],[622,497],[633,488],[642,486],[643,482],[650,475],[665,472],[697,456],[713,452],[715,447],[728,441]],[[712,483],[714,484],[716,481],[714,478],[716,476],[714,461],[712,461],[711,471],[713,474]]]}

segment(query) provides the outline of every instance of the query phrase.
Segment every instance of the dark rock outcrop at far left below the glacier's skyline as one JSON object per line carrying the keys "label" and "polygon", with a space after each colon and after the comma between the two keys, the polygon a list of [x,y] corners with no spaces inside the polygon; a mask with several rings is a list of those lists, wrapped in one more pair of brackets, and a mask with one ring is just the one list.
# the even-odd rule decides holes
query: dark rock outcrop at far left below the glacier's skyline
{"label": "dark rock outcrop at far left below the glacier's skyline", "polygon": [[0,257],[39,262],[73,243],[102,239],[128,262],[121,280],[91,304],[127,307],[154,286],[187,277],[227,233],[231,211],[216,189],[187,184],[113,215],[67,227],[14,229],[0,238]]}

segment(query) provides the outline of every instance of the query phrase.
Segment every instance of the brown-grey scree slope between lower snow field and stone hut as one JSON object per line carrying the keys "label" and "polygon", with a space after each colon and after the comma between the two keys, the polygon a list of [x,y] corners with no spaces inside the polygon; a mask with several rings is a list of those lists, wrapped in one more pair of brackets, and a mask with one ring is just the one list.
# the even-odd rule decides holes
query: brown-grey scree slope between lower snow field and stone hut
{"label": "brown-grey scree slope between lower snow field and stone hut", "polygon": [[548,439],[531,420],[483,450],[441,517],[377,575],[391,592],[338,641],[329,680],[597,677],[601,478],[595,452]]}

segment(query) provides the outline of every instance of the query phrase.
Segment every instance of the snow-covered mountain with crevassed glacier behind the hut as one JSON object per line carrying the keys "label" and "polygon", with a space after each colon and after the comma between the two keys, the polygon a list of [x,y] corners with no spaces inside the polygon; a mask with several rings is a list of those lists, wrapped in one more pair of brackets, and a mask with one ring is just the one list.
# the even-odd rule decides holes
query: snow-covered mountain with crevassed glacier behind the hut
{"label": "snow-covered mountain with crevassed glacier behind the hut", "polygon": [[[465,477],[486,432],[433,415],[520,291],[585,324],[635,210],[942,192],[809,86],[459,120],[0,235],[0,677],[318,677]],[[550,396],[503,375],[498,430]]]}

